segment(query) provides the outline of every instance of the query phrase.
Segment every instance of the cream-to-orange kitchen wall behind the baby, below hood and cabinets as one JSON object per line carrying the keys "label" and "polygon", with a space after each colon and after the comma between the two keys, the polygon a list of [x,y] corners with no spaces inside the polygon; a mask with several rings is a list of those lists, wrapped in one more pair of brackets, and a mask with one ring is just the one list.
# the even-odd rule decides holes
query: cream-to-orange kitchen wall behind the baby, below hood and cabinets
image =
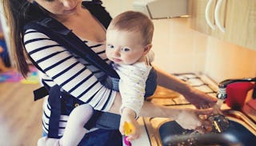
{"label": "cream-to-orange kitchen wall behind the baby, below hood and cabinets", "polygon": [[[103,0],[114,17],[132,10],[133,0]],[[190,18],[154,22],[154,64],[169,73],[206,73],[214,81],[256,77],[256,51],[190,29]]]}

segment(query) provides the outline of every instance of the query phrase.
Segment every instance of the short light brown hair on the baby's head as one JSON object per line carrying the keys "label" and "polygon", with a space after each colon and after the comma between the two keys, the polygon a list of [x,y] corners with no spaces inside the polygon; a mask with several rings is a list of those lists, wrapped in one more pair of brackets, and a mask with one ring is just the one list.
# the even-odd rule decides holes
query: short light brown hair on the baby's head
{"label": "short light brown hair on the baby's head", "polygon": [[144,39],[142,42],[143,45],[152,43],[154,24],[146,14],[142,14],[141,12],[129,10],[118,14],[110,22],[108,30],[112,29],[138,32]]}

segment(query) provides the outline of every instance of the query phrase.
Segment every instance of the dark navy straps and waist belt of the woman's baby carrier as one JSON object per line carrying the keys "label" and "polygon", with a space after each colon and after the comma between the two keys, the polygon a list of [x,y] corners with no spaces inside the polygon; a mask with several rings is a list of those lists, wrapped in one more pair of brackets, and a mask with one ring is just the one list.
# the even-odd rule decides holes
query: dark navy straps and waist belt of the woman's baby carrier
{"label": "dark navy straps and waist belt of the woman's baby carrier", "polygon": [[[97,0],[92,2],[82,2],[82,5],[85,6],[86,9],[90,10],[90,13],[93,14],[94,17],[98,18],[102,25],[107,28],[111,21],[111,17],[110,14],[106,12],[104,7],[101,6],[101,4],[101,1]],[[38,20],[26,24],[24,31],[28,29],[38,30],[43,34],[46,34],[52,40],[57,41],[60,45],[66,47],[66,49],[69,49],[71,53],[77,54],[79,57],[90,62],[91,65],[95,65],[98,67],[98,69],[104,71],[107,76],[119,78],[118,74],[110,65],[106,63],[106,61],[103,61],[101,57],[98,57],[98,55],[94,53],[94,51],[91,50],[89,46],[87,46],[82,40],[74,35],[71,30],[67,29],[66,26],[63,26],[62,23],[58,22],[54,18],[38,18]],[[81,50],[81,48],[86,49]],[[32,59],[30,60],[40,71],[44,72]],[[34,91],[34,101],[49,95],[48,100],[52,109],[49,121],[48,137],[58,138],[58,124],[60,115],[69,115],[72,109],[74,109],[75,105],[82,105],[85,103],[79,101],[75,97],[72,97],[66,92],[62,92],[58,85],[49,87],[48,85],[44,84],[44,82],[42,82],[42,84],[44,85],[43,87]],[[59,98],[60,96],[62,96],[62,99]],[[65,107],[66,105],[70,106]],[[107,125],[100,124],[100,122],[96,122],[99,120],[99,117],[102,118],[102,123],[105,124],[107,124],[106,121],[110,119],[113,119],[113,121],[108,122],[109,124]],[[105,117],[107,117],[107,120]],[[94,116],[90,118],[90,121],[85,125],[85,127],[88,129],[92,127],[118,129],[119,118],[120,116],[116,114],[95,111]],[[97,126],[96,123],[98,123]]]}

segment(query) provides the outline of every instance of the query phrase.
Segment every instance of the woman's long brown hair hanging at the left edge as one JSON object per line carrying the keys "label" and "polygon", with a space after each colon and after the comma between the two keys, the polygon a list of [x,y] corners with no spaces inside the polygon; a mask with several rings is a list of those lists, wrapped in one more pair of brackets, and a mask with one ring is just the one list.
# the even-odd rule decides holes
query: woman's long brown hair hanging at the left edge
{"label": "woman's long brown hair hanging at the left edge", "polygon": [[29,68],[24,49],[23,27],[27,22],[46,14],[38,5],[29,0],[2,0],[8,26],[10,26],[10,49],[14,55],[14,63],[22,76],[26,77]]}

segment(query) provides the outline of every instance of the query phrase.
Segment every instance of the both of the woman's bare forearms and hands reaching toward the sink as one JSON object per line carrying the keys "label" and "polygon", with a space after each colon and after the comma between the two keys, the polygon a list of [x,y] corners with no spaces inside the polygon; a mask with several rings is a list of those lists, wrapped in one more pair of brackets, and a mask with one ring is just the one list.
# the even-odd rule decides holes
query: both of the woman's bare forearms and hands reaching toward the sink
{"label": "both of the woman's bare forearms and hands reaching toward the sink", "polygon": [[[200,108],[202,105],[214,105],[217,101],[214,97],[210,97],[205,93],[202,93],[198,89],[193,89],[191,86],[187,85],[184,81],[179,80],[177,77],[172,76],[170,73],[166,73],[161,69],[154,66],[154,69],[158,71],[158,85],[162,85],[167,89],[172,89],[178,93],[182,93],[184,97],[192,104]],[[114,104],[112,105],[110,112],[118,114],[118,109],[121,105],[120,93],[117,94]],[[184,109],[177,107],[167,107],[161,105],[154,105],[148,101],[144,102],[140,116],[150,116],[150,117],[168,117],[176,120],[183,128],[201,130],[202,124],[207,126],[207,123],[202,121],[198,115],[209,115],[212,113],[212,109],[198,110],[198,109]],[[186,120],[184,120],[186,118]],[[209,125],[208,125],[209,126]]]}

